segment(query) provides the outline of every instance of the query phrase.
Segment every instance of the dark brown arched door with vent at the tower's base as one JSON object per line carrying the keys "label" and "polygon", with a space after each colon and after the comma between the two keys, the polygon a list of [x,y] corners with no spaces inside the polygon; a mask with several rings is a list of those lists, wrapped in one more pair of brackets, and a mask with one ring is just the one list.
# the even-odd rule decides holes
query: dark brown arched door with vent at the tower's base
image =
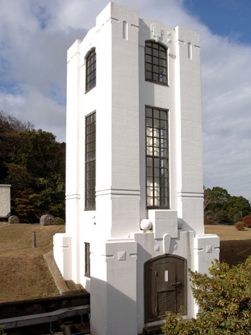
{"label": "dark brown arched door with vent at the tower's base", "polygon": [[187,262],[177,255],[161,255],[144,263],[145,323],[178,313],[186,307]]}

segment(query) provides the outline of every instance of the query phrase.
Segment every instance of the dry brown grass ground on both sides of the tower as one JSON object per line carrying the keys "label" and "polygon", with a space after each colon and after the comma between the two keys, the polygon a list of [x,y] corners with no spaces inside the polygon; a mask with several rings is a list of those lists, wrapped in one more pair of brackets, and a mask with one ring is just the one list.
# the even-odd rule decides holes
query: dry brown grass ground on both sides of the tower
{"label": "dry brown grass ground on both sides of the tower", "polygon": [[[0,302],[59,295],[43,255],[52,250],[52,238],[65,226],[0,223]],[[36,232],[36,248],[32,248]],[[251,255],[251,229],[205,225],[206,234],[220,237],[220,260],[229,265]]]}

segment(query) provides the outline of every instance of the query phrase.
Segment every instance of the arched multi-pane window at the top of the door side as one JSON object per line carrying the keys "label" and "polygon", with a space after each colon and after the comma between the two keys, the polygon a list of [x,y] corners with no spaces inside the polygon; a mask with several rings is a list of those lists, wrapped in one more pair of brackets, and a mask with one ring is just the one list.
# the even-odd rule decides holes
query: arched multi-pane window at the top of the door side
{"label": "arched multi-pane window at the top of the door side", "polygon": [[153,40],[145,44],[146,80],[167,85],[167,49]]}

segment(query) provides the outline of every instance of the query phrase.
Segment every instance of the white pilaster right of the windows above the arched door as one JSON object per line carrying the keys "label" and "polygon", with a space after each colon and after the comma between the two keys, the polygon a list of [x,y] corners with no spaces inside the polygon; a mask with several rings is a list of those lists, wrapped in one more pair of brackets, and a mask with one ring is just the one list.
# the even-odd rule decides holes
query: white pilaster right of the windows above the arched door
{"label": "white pilaster right of the windows above the arched door", "polygon": [[[178,217],[204,234],[199,34],[176,27]],[[192,53],[191,53],[192,50]]]}

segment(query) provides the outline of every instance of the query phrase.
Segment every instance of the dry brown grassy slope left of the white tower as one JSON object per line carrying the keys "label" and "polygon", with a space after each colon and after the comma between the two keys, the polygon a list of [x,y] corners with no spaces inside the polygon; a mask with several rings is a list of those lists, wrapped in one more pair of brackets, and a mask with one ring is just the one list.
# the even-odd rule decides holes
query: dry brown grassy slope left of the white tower
{"label": "dry brown grassy slope left of the white tower", "polygon": [[53,235],[64,230],[59,225],[0,223],[0,302],[59,294],[43,255],[52,250]]}

